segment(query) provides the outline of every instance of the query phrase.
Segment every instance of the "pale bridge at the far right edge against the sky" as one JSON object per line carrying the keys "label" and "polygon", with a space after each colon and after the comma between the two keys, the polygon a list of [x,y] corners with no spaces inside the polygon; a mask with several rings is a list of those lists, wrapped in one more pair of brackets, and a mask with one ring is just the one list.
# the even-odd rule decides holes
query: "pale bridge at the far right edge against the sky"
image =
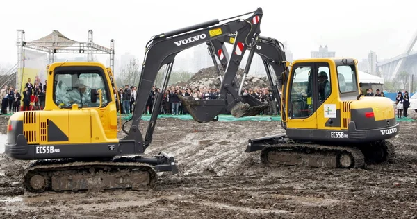
{"label": "pale bridge at the far right edge against the sky", "polygon": [[378,63],[381,76],[385,80],[393,80],[398,73],[406,71],[411,75],[417,75],[417,51],[413,51],[417,42],[417,31],[407,44],[404,52],[389,60]]}

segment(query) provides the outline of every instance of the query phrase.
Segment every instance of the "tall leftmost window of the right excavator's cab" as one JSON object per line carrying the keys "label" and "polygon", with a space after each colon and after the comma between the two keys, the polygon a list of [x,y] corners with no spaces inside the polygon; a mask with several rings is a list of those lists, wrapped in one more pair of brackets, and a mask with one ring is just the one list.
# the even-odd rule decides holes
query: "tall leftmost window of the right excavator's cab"
{"label": "tall leftmost window of the right excavator's cab", "polygon": [[311,67],[297,67],[294,70],[289,105],[290,115],[293,118],[303,118],[313,114],[311,76]]}

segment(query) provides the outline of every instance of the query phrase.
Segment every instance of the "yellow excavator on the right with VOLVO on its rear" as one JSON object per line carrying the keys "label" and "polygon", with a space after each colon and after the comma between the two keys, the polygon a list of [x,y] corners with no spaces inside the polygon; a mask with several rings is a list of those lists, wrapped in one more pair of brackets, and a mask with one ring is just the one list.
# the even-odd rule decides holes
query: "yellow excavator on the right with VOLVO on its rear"
{"label": "yellow excavator on the right with VOLVO on its rear", "polygon": [[[223,55],[228,54],[224,44],[233,44],[235,36],[224,35],[207,43],[212,56],[218,58],[220,66],[213,61],[219,73],[228,62]],[[285,133],[250,139],[245,152],[261,150],[265,164],[326,168],[363,168],[365,164],[392,161],[394,147],[385,140],[399,132],[393,103],[389,98],[359,94],[357,60],[305,59],[290,66],[283,44],[259,36],[250,50],[242,81],[254,53],[265,65]],[[236,81],[234,84],[238,84]],[[197,121],[208,121],[199,116],[201,104],[192,99],[188,102],[188,110]]]}

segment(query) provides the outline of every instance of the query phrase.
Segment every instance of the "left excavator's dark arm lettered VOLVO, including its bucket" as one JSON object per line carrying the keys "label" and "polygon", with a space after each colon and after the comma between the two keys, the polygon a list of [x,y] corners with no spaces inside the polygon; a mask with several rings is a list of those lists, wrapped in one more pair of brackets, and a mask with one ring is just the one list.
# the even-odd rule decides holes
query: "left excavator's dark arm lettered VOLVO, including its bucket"
{"label": "left excavator's dark arm lettered VOLVO, including its bucket", "polygon": [[[224,111],[231,111],[232,109],[238,110],[238,103],[241,103],[241,98],[238,95],[238,91],[232,89],[231,83],[236,76],[236,71],[240,61],[245,54],[248,47],[252,47],[256,44],[256,39],[260,30],[260,24],[262,19],[262,8],[258,8],[254,12],[247,13],[250,15],[247,19],[218,19],[207,21],[202,24],[181,28],[179,30],[173,30],[167,33],[156,35],[147,44],[145,50],[145,58],[140,76],[140,82],[138,85],[138,94],[136,98],[136,105],[134,107],[133,115],[131,118],[131,127],[129,132],[126,132],[126,137],[120,140],[121,147],[133,148],[133,154],[143,153],[145,149],[152,141],[152,134],[156,125],[158,112],[161,108],[161,102],[163,92],[167,87],[167,83],[172,71],[172,64],[174,63],[175,56],[193,46],[208,42],[218,37],[222,37],[227,34],[234,33],[236,35],[235,43],[233,46],[234,53],[231,54],[231,62],[227,63],[226,72],[222,80],[222,87],[220,88],[219,98],[216,100],[194,100],[191,104],[196,105],[198,109],[198,117],[195,119],[202,119],[202,121],[212,121],[215,116]],[[234,20],[231,20],[234,19]],[[220,24],[222,21],[227,21],[224,24]],[[161,87],[161,93],[156,93],[154,98],[154,106],[151,115],[151,119],[148,124],[147,133],[145,135],[145,141],[142,139],[142,134],[139,130],[140,119],[142,112],[146,107],[149,92],[154,85],[158,70],[163,65],[167,65],[166,71],[163,76],[163,85]],[[234,97],[234,101],[229,103],[227,101],[227,94]],[[179,96],[181,98],[181,96]],[[187,102],[187,101],[186,101]],[[183,101],[184,103],[184,101]],[[184,105],[187,105],[184,103]],[[192,114],[193,115],[193,114]],[[124,130],[124,128],[123,128]],[[132,146],[134,144],[134,146]]]}

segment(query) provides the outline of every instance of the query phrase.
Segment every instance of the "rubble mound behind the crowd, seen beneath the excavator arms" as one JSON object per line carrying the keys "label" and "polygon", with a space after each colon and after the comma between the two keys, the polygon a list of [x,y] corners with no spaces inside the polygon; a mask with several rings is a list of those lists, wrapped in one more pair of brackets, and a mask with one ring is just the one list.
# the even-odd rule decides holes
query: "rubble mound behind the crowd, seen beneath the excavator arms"
{"label": "rubble mound behind the crowd, seen beneath the excavator arms", "polygon": [[[238,81],[242,80],[243,76],[243,69],[238,69],[237,77]],[[219,77],[219,73],[215,67],[208,67],[204,69],[200,69],[195,73],[190,80],[186,82],[186,85],[190,85],[191,87],[197,87],[197,89],[202,89],[203,87],[215,87],[220,88],[221,81]],[[268,78],[265,77],[257,77],[252,75],[247,75],[245,78],[245,84],[243,88],[254,88],[254,87],[268,87],[269,82]]]}

